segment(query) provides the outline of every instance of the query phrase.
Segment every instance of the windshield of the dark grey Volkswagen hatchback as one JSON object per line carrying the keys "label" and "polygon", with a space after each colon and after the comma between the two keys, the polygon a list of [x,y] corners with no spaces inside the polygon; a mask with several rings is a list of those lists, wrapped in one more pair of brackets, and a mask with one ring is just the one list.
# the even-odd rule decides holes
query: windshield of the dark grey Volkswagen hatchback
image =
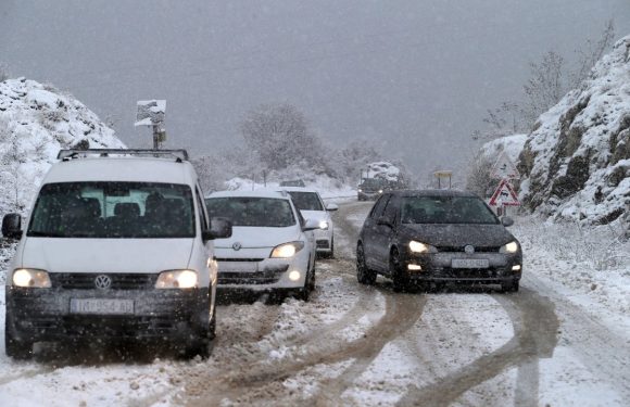
{"label": "windshield of the dark grey Volkswagen hatchback", "polygon": [[474,196],[406,196],[403,224],[499,224],[492,211]]}

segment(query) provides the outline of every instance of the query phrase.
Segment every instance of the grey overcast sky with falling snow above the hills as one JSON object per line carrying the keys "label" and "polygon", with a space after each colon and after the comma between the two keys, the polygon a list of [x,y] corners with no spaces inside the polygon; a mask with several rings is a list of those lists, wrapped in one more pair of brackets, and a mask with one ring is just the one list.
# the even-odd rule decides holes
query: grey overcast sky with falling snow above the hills
{"label": "grey overcast sky with falling snow above the hills", "polygon": [[168,147],[240,141],[260,103],[302,110],[332,145],[367,139],[416,171],[458,168],[528,63],[597,39],[629,0],[0,0],[0,63],[67,90],[129,147],[136,101],[166,99]]}

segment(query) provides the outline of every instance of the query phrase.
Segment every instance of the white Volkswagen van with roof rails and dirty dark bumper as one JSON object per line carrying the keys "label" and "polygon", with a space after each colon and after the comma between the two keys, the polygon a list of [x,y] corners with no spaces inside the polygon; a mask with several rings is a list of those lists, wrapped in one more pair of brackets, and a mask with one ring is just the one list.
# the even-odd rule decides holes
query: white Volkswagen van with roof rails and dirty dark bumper
{"label": "white Volkswagen van with roof rails and dirty dark bumper", "polygon": [[68,339],[171,341],[209,354],[215,330],[215,238],[184,150],[62,150],[43,178],[7,276],[7,355]]}

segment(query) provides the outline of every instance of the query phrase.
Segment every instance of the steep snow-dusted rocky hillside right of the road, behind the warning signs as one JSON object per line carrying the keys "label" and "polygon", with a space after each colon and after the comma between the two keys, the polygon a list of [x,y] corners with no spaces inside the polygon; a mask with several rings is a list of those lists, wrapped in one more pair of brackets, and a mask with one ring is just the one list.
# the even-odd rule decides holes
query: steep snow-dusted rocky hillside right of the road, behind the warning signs
{"label": "steep snow-dusted rocky hillside right of the road, behind the warning signs", "polygon": [[591,79],[541,115],[520,155],[521,198],[536,212],[607,224],[630,203],[630,36]]}

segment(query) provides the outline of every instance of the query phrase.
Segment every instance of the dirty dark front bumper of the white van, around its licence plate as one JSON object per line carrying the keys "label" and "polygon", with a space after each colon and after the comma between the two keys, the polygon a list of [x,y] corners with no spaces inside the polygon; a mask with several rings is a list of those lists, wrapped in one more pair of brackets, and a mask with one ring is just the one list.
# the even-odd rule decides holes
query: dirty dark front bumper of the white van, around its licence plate
{"label": "dirty dark front bumper of the white van, around its licence plate", "polygon": [[[58,290],[7,287],[7,329],[21,341],[188,340],[207,329],[209,290]],[[128,314],[71,310],[73,300],[123,300]],[[131,302],[131,303],[130,303]]]}

